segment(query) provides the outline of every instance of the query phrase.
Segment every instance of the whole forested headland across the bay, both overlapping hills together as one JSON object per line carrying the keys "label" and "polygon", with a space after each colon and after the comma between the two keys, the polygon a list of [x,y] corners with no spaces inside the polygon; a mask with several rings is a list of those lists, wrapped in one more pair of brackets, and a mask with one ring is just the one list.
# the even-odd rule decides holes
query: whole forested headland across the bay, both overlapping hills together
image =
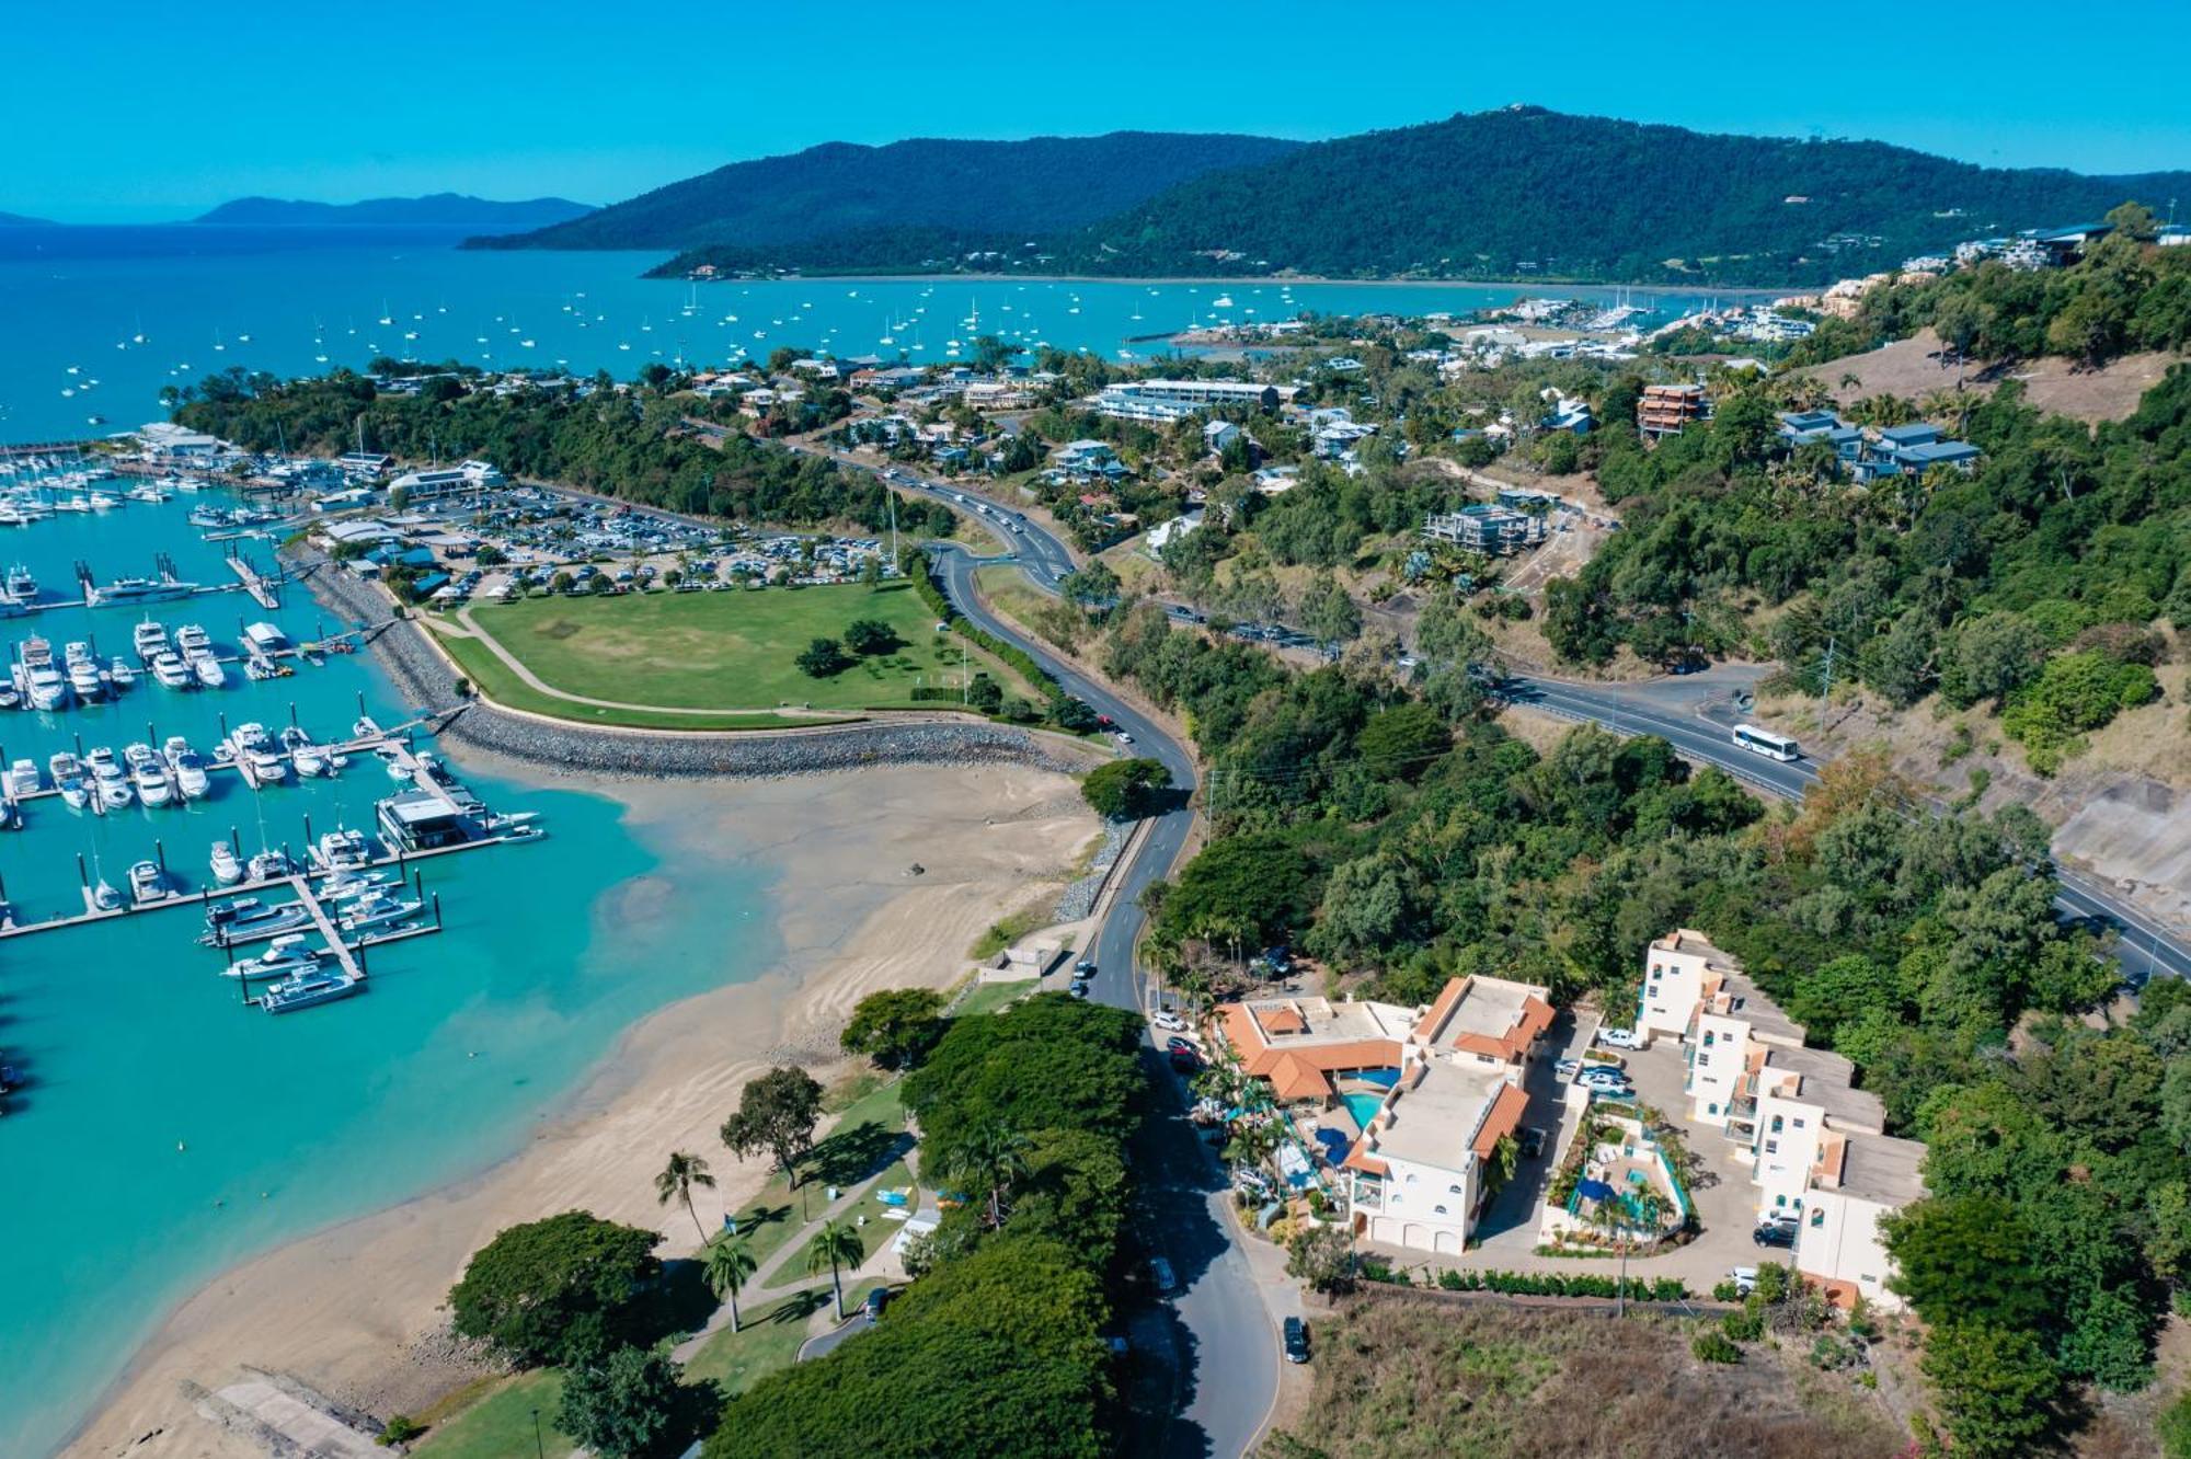
{"label": "whole forested headland across the bay, both overlapping hills together", "polygon": [[811,147],[486,248],[670,248],[657,274],[1089,274],[1816,285],[2167,208],[2191,173],[1994,169],[1542,107],[1330,142],[1117,131]]}

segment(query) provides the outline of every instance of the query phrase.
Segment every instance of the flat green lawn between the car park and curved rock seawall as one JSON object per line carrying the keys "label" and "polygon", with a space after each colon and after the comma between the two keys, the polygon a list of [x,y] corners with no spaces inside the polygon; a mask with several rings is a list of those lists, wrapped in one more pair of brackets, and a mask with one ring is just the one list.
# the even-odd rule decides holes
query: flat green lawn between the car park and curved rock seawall
{"label": "flat green lawn between the car park and curved rock seawall", "polygon": [[[859,659],[826,679],[800,673],[793,659],[817,637],[841,637],[857,618],[887,622],[901,646]],[[543,683],[589,699],[690,710],[861,710],[911,705],[916,686],[957,686],[957,635],[938,633],[909,583],[870,589],[771,587],[714,594],[622,594],[613,598],[524,598],[482,605],[471,620],[493,633]],[[493,657],[478,644],[445,640],[469,666]],[[982,653],[971,668],[986,668],[1008,692],[1032,692],[1019,675]],[[513,683],[513,675],[480,675],[482,688]],[[552,714],[578,719],[585,705],[543,701]],[[530,708],[530,705],[528,705]],[[681,723],[688,716],[664,716]]]}

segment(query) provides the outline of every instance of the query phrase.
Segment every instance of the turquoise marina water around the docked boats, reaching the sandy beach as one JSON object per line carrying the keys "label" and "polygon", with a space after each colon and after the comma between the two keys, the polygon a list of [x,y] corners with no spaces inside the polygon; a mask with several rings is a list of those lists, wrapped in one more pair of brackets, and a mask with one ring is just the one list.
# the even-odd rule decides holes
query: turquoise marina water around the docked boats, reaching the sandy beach
{"label": "turquoise marina water around the docked boats, reaching the sandy beach", "polygon": [[[208,493],[210,495],[210,493]],[[182,524],[188,499],[107,517],[55,517],[0,537],[48,585],[74,556],[101,576],[142,572],[167,548],[184,576],[215,578],[219,548]],[[254,543],[265,561],[265,545]],[[234,644],[237,618],[309,633],[318,609],[291,589],[278,613],[241,594],[156,605],[171,629],[204,622]],[[127,653],[123,609],[0,622],[0,642],[99,635]],[[342,734],[359,694],[381,723],[405,710],[366,657],[291,679],[175,692],[149,679],[118,705],[0,714],[0,754],[39,762],[85,745],[186,734],[202,749],[226,716]],[[462,760],[458,758],[458,769]],[[0,944],[0,1045],[31,1087],[0,1119],[0,1413],[9,1455],[50,1450],[149,1336],[219,1268],[316,1227],[386,1207],[521,1146],[526,1130],[646,1012],[776,960],[760,870],[664,861],[607,800],[467,776],[497,808],[543,813],[548,839],[423,863],[447,931],[370,955],[370,990],[272,1019],[241,1008],[221,957],[193,944],[188,909]],[[57,797],[0,835],[0,876],[20,916],[81,907],[77,854],[121,883],[162,841],[206,881],[206,848],[237,828],[302,843],[337,819],[370,824],[390,782],[372,758],[335,782],[256,795],[215,776],[191,808],[107,817]]]}

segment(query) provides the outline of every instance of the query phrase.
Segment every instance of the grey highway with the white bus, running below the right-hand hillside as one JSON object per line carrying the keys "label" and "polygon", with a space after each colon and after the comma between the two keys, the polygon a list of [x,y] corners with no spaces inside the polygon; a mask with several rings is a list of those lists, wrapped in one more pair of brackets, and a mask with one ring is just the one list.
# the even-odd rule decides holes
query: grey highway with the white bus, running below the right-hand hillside
{"label": "grey highway with the white bus, running below the right-hand hillside", "polygon": [[[1751,754],[1733,743],[1727,725],[1648,703],[1634,690],[1529,675],[1514,675],[1507,683],[1516,703],[1532,703],[1562,719],[1586,719],[1619,734],[1663,736],[1685,760],[1718,765],[1786,800],[1801,800],[1803,791],[1819,780],[1819,769],[1808,758],[1781,762]],[[2149,916],[2132,909],[2084,872],[2062,863],[2055,863],[2055,881],[2060,883],[2055,907],[2064,916],[2101,922],[2117,931],[2114,955],[2132,984],[2143,984],[2154,975],[2191,977],[2191,949],[2169,938]]]}

